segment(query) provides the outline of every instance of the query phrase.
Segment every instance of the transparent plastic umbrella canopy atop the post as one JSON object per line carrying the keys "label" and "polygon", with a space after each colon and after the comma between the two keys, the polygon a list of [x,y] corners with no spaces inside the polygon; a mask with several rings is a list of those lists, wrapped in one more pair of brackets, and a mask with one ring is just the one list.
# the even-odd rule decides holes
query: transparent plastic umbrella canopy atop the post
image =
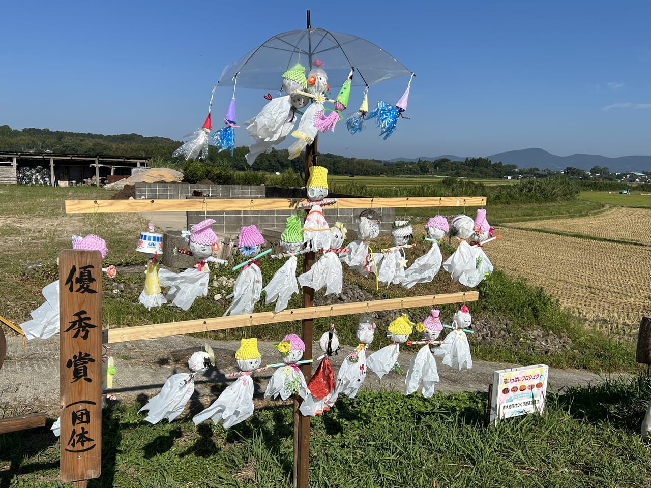
{"label": "transparent plastic umbrella canopy atop the post", "polygon": [[301,63],[309,70],[312,61],[322,61],[328,78],[346,79],[355,70],[353,85],[372,85],[387,79],[411,75],[404,64],[381,47],[352,34],[310,27],[276,34],[221,75],[217,85],[275,90],[280,88],[280,74]]}

